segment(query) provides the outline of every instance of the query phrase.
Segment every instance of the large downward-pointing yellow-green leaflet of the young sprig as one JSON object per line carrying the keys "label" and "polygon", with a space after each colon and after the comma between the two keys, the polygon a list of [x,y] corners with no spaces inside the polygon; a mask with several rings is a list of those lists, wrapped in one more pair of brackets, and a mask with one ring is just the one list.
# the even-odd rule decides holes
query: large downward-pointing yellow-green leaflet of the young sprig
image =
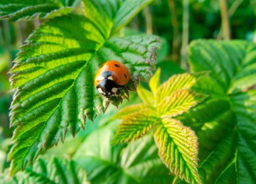
{"label": "large downward-pointing yellow-green leaflet of the young sprig", "polygon": [[201,183],[197,171],[197,136],[178,120],[163,119],[154,131],[158,154],[170,172],[189,183]]}

